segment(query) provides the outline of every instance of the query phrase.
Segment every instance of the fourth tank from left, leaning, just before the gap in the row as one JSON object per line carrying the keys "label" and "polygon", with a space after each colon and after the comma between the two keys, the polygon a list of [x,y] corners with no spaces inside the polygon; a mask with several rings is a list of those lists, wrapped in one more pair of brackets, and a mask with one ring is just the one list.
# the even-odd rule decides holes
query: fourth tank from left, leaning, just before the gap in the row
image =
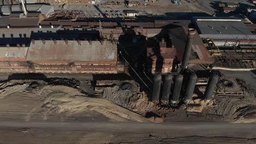
{"label": "fourth tank from left, leaning, just before the gap in the row", "polygon": [[196,80],[197,80],[196,74],[190,75],[187,88],[185,89],[185,94],[184,94],[184,102],[187,104],[192,99],[192,96],[195,90]]}

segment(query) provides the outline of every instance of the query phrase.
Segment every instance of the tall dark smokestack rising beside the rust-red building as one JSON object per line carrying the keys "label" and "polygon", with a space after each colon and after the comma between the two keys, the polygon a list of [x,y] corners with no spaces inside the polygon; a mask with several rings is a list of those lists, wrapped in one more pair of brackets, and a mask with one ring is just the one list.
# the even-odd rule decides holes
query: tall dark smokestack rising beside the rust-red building
{"label": "tall dark smokestack rising beside the rust-red building", "polygon": [[183,60],[182,60],[182,68],[183,69],[187,69],[187,67],[188,67],[188,61],[189,61],[189,56],[190,56],[192,45],[193,45],[194,35],[195,35],[195,29],[189,28],[188,40],[187,40],[187,44],[186,44],[186,47],[184,50],[184,56],[183,56]]}

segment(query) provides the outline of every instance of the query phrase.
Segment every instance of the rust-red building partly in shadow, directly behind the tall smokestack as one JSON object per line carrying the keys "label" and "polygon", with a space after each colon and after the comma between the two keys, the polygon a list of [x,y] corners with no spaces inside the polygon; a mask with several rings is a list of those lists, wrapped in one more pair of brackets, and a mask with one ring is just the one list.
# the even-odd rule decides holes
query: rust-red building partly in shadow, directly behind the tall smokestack
{"label": "rust-red building partly in shadow, directly behind the tall smokestack", "polygon": [[[162,32],[165,31],[167,33],[166,39],[153,40],[156,43],[147,47],[147,57],[151,62],[148,67],[152,74],[168,74],[175,71],[177,65],[182,62],[186,43],[188,43],[188,28],[162,29]],[[213,62],[214,59],[208,53],[199,35],[195,33],[188,64],[212,64]]]}

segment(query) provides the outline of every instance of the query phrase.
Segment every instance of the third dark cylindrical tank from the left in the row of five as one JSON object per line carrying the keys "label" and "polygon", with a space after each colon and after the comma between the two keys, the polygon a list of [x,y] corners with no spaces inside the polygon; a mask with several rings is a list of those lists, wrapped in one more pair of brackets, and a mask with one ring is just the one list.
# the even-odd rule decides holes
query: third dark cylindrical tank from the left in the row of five
{"label": "third dark cylindrical tank from the left in the row of five", "polygon": [[179,100],[179,94],[181,93],[183,75],[177,75],[174,80],[174,86],[172,91],[171,103],[175,104]]}

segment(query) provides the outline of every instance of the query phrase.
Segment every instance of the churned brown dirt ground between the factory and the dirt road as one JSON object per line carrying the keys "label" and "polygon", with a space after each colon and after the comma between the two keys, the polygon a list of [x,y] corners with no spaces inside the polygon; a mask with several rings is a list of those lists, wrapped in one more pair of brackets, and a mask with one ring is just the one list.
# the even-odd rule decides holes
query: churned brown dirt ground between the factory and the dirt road
{"label": "churned brown dirt ground between the factory and the dirt road", "polygon": [[[0,83],[0,119],[26,121],[106,121],[106,122],[235,122],[256,121],[255,90],[236,80],[242,95],[226,97],[223,86],[206,103],[195,91],[193,100],[176,106],[149,101],[149,96],[133,80],[8,80]],[[234,79],[232,79],[234,80]],[[235,80],[234,80],[235,81]],[[203,93],[205,87],[198,87]],[[220,95],[218,94],[220,93]]]}

